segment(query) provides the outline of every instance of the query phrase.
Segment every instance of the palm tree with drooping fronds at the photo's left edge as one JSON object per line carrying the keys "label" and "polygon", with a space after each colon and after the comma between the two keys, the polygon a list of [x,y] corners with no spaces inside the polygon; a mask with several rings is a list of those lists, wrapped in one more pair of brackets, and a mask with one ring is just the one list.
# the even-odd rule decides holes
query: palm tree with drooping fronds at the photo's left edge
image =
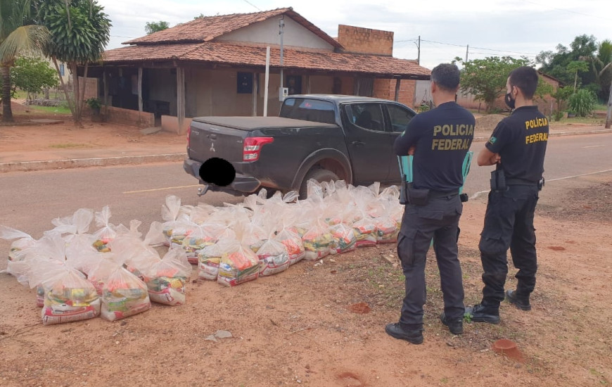
{"label": "palm tree with drooping fronds at the photo's left edge", "polygon": [[0,0],[0,71],[2,75],[3,122],[13,121],[11,67],[20,53],[42,52],[49,32],[41,25],[25,25],[30,0]]}

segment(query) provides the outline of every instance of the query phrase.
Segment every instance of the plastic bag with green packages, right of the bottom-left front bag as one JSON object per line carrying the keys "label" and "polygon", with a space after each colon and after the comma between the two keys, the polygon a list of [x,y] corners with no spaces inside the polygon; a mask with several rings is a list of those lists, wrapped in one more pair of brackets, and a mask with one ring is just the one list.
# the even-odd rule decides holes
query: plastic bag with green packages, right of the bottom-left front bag
{"label": "plastic bag with green packages, right of the bottom-left front bag", "polygon": [[100,315],[108,321],[133,316],[151,308],[146,284],[117,266],[102,288],[102,307]]}

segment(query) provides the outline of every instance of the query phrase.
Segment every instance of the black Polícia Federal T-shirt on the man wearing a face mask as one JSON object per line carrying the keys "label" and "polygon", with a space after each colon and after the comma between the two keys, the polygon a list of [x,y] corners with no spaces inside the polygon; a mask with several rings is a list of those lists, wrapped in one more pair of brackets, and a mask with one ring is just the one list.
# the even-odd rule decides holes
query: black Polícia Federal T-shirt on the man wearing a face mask
{"label": "black Pol\u00edcia Federal T-shirt on the man wearing a face mask", "polygon": [[544,173],[548,120],[537,106],[521,106],[497,124],[485,146],[499,153],[506,179],[536,183]]}

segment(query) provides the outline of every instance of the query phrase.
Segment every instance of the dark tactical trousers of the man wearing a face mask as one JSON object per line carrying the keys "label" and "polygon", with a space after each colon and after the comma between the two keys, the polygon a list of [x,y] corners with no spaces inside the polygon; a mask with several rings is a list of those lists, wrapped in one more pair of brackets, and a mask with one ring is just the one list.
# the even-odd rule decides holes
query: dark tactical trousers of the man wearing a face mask
{"label": "dark tactical trousers of the man wearing a face mask", "polygon": [[483,305],[499,307],[504,300],[508,248],[518,269],[516,297],[526,300],[533,291],[537,271],[533,213],[537,199],[535,185],[510,185],[507,191],[489,193],[485,226],[478,245],[484,271]]}

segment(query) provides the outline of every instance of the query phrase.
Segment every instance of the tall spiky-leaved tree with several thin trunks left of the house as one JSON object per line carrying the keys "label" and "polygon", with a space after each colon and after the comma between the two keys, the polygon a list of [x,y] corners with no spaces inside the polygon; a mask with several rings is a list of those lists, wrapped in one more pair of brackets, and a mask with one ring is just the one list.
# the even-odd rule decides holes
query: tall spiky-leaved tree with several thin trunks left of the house
{"label": "tall spiky-leaved tree with several thin trunks left of the house", "polygon": [[79,123],[82,117],[85,87],[80,87],[78,66],[83,66],[83,78],[87,79],[88,65],[100,61],[104,47],[110,37],[110,20],[96,0],[44,0],[39,3],[39,18],[51,32],[51,42],[46,53],[56,66],[58,61],[66,63],[72,72],[74,96],[62,78],[68,107],[72,117]]}

